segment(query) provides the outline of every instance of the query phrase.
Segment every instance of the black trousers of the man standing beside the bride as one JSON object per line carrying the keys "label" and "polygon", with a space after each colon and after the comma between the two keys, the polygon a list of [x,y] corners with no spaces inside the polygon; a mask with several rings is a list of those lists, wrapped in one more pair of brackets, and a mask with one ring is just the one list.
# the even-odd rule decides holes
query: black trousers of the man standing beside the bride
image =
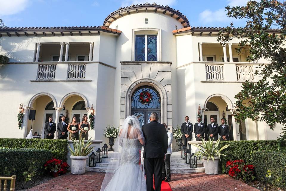
{"label": "black trousers of the man standing beside the bride", "polygon": [[[147,191],[153,191],[153,184],[155,184],[155,191],[161,191],[162,183],[162,165],[164,158],[144,158],[144,169],[146,173]],[[154,183],[153,183],[154,176]]]}

